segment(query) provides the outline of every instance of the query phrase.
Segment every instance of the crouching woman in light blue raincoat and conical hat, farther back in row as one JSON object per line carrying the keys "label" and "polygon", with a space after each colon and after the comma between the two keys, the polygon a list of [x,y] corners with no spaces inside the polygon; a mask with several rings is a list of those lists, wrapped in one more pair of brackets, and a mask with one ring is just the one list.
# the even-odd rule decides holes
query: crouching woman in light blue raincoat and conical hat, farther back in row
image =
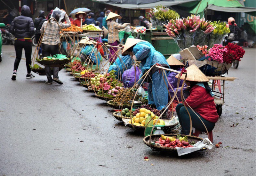
{"label": "crouching woman in light blue raincoat and conical hat, farther back in row", "polygon": [[[80,44],[85,44],[82,48],[81,53],[86,55],[88,58],[91,58],[90,61],[94,63],[94,65],[100,65],[100,61],[102,60],[102,56],[100,52],[98,52],[97,47],[94,47],[93,43],[88,39],[82,39]],[[95,54],[97,53],[97,56]]]}

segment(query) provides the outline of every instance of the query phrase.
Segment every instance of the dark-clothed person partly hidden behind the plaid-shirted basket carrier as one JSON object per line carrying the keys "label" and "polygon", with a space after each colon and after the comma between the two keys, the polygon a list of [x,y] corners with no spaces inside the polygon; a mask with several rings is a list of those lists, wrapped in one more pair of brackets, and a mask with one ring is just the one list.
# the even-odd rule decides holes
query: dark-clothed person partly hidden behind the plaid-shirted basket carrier
{"label": "dark-clothed person partly hidden behind the plaid-shirted basket carrier", "polygon": [[[41,36],[41,33],[40,33],[40,29],[43,25],[43,23],[46,21],[46,18],[44,17],[44,11],[39,11],[39,15],[38,15],[38,18],[36,18],[34,20],[34,25],[35,25],[35,28],[36,28],[36,31],[35,31],[35,38],[36,38],[36,43],[38,44],[39,42],[39,39],[40,39],[40,36]],[[41,47],[39,48],[39,59],[42,58],[42,51],[41,51]]]}

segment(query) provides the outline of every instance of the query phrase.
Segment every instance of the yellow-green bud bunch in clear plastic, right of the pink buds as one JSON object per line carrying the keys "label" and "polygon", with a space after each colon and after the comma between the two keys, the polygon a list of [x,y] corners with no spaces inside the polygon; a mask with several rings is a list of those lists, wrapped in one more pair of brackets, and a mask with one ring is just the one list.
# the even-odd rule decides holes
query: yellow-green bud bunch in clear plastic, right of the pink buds
{"label": "yellow-green bud bunch in clear plastic, right of the pink buds", "polygon": [[227,35],[230,32],[225,22],[213,21],[211,22],[211,25],[215,27],[215,29],[212,31],[212,33],[210,33],[208,43],[208,46],[210,48],[213,47],[214,44],[221,44],[225,35]]}

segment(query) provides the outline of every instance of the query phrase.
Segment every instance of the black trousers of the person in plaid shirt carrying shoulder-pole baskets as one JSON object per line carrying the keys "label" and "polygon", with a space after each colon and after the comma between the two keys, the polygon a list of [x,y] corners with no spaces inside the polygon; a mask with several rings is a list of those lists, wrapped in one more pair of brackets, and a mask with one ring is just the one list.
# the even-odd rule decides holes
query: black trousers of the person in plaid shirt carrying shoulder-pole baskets
{"label": "black trousers of the person in plaid shirt carrying shoulder-pole baskets", "polygon": [[[59,54],[59,45],[47,45],[42,43],[41,47],[42,47],[43,57],[50,56],[50,54],[52,56]],[[45,73],[46,73],[48,82],[52,82],[51,67],[45,67]],[[59,79],[58,73],[59,73],[59,67],[53,67],[53,78]]]}

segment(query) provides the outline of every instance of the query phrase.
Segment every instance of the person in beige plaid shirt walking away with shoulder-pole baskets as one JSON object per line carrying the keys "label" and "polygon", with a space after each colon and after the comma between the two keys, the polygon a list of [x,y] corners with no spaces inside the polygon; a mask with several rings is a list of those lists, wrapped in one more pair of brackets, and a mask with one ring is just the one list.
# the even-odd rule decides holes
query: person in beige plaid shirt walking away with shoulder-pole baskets
{"label": "person in beige plaid shirt walking away with shoulder-pole baskets", "polygon": [[[62,10],[62,9],[61,9]],[[64,11],[64,10],[62,10]],[[61,29],[68,28],[71,26],[71,22],[68,18],[68,15],[65,14],[65,18],[67,23],[61,23],[60,20],[60,11],[53,11],[52,12],[52,18],[49,21],[45,21],[40,32],[41,34],[44,33],[43,39],[42,39],[42,55],[43,57],[50,56],[50,54],[56,55],[59,53],[59,43],[60,43],[60,27],[57,24],[57,22],[53,19],[55,18],[56,21],[58,21],[58,24],[60,25]],[[48,23],[48,24],[47,24]],[[47,27],[46,27],[47,25]],[[53,67],[53,79],[51,75],[51,67],[45,67],[45,72],[47,76],[46,84],[52,84],[52,81],[57,82],[58,84],[63,84],[59,80],[59,67]]]}

